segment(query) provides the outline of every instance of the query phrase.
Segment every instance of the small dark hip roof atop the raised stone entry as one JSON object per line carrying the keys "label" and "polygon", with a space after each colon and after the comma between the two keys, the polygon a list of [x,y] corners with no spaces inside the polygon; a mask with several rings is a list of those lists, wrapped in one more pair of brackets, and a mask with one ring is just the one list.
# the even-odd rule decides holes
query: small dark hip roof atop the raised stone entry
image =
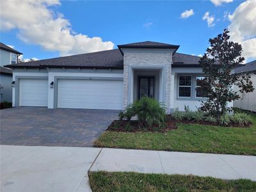
{"label": "small dark hip roof atop the raised stone entry", "polygon": [[[172,44],[163,44],[159,42],[137,42],[132,44],[123,44],[123,45],[117,45],[118,49],[122,52],[123,48],[129,48],[129,49],[175,49],[174,52],[179,49],[180,45],[172,45]],[[124,54],[122,52],[122,54]]]}

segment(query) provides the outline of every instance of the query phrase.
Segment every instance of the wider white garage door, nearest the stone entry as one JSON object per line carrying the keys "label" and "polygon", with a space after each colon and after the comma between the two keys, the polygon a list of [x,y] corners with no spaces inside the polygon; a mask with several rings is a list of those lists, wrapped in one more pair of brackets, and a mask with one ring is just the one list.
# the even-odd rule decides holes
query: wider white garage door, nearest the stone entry
{"label": "wider white garage door, nearest the stone entry", "polygon": [[123,81],[58,81],[58,108],[122,109]]}

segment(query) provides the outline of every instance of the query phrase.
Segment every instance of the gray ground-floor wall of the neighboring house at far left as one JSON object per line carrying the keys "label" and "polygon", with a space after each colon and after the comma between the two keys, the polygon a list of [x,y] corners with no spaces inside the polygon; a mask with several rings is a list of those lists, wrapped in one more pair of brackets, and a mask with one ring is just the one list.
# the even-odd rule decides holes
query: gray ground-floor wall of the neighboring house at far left
{"label": "gray ground-floor wall of the neighboring house at far left", "polygon": [[0,101],[12,102],[12,75],[0,74]]}

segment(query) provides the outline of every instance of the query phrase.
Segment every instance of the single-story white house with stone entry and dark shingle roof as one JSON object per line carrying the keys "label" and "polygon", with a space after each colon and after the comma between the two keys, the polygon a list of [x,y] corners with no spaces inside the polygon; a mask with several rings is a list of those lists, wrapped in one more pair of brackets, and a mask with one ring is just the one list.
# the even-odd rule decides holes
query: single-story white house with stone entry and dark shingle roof
{"label": "single-story white house with stone entry and dark shingle roof", "polygon": [[[179,45],[138,42],[118,49],[7,65],[13,68],[13,107],[124,109],[147,95],[168,112],[196,110],[204,78],[200,57]],[[198,91],[196,91],[198,88]],[[230,103],[229,105],[232,105]]]}

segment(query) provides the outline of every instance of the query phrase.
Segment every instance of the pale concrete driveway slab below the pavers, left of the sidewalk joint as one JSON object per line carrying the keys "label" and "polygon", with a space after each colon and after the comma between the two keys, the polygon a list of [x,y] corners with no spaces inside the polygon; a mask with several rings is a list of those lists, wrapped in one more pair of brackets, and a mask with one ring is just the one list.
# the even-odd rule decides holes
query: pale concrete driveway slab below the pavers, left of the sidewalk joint
{"label": "pale concrete driveway slab below the pavers, left of the sidewalk joint", "polygon": [[1,192],[91,191],[88,169],[100,148],[1,145]]}

